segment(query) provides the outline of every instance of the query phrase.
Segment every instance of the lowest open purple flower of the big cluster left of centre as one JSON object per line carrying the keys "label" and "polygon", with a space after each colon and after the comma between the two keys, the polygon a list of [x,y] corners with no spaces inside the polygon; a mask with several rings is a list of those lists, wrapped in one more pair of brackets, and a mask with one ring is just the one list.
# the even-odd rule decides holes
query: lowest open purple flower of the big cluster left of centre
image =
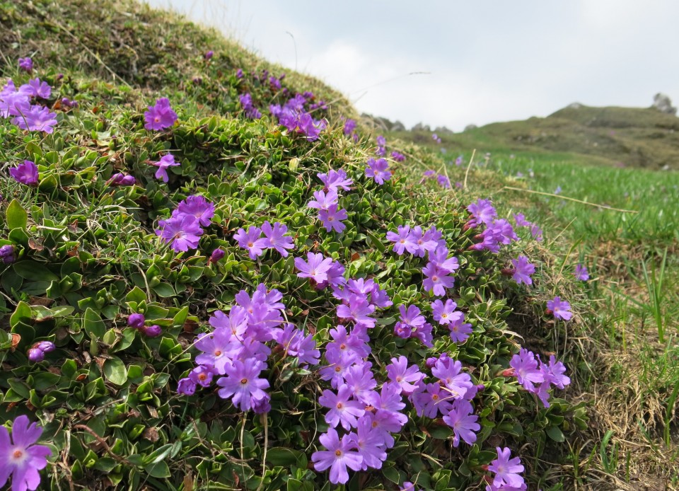
{"label": "lowest open purple flower of the big cluster left of centre", "polygon": [[217,391],[219,397],[231,398],[233,405],[241,411],[249,410],[254,402],[267,397],[264,389],[269,387],[269,381],[260,378],[264,368],[265,364],[259,361],[243,363],[235,360],[233,364],[226,365],[226,377],[217,381],[217,385],[221,387]]}

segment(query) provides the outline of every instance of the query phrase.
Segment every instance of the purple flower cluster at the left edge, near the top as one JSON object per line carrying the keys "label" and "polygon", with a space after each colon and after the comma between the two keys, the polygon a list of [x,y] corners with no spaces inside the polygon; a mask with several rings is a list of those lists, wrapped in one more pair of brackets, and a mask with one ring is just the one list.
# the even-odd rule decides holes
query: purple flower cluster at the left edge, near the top
{"label": "purple flower cluster at the left edge, near the top", "polygon": [[[32,65],[31,65],[32,67]],[[30,71],[30,70],[27,70]],[[49,108],[33,103],[37,99],[48,99],[52,88],[40,79],[30,80],[19,88],[9,79],[0,90],[0,117],[12,118],[12,124],[31,132],[54,132],[57,115]]]}

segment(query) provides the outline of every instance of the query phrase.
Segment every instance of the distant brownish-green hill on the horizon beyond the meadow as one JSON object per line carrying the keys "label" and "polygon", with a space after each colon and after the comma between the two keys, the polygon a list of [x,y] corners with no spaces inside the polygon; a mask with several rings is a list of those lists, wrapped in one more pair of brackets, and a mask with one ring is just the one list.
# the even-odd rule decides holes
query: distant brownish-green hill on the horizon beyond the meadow
{"label": "distant brownish-green hill on the horizon beyond the meadow", "polygon": [[[429,132],[397,135],[418,143],[431,141]],[[442,146],[452,151],[544,151],[587,163],[679,170],[679,118],[652,108],[574,104],[547,117],[439,136]]]}

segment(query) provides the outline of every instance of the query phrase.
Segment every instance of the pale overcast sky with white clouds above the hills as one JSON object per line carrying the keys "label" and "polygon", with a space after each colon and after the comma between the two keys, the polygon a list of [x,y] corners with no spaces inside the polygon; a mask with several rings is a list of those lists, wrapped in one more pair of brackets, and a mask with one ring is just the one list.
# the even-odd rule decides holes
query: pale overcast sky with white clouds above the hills
{"label": "pale overcast sky with white clouds above the hills", "polygon": [[657,92],[679,102],[675,0],[147,1],[407,127],[643,107]]}

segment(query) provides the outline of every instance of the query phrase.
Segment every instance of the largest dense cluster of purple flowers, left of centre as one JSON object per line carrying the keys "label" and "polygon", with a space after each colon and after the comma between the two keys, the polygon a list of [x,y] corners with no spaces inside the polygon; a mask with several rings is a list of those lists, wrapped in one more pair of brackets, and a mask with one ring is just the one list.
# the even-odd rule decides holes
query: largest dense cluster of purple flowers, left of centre
{"label": "largest dense cluster of purple flowers, left of centre", "polygon": [[285,355],[296,357],[299,364],[318,364],[320,358],[313,337],[284,322],[282,298],[280,291],[267,291],[259,284],[252,297],[245,290],[236,294],[236,305],[228,314],[216,311],[209,318],[214,330],[196,340],[195,347],[201,352],[197,366],[180,379],[178,392],[192,395],[197,386],[209,387],[216,379],[219,396],[231,399],[235,407],[268,412],[270,396],[265,389],[269,381],[261,376],[272,353],[266,343],[277,342]]}

